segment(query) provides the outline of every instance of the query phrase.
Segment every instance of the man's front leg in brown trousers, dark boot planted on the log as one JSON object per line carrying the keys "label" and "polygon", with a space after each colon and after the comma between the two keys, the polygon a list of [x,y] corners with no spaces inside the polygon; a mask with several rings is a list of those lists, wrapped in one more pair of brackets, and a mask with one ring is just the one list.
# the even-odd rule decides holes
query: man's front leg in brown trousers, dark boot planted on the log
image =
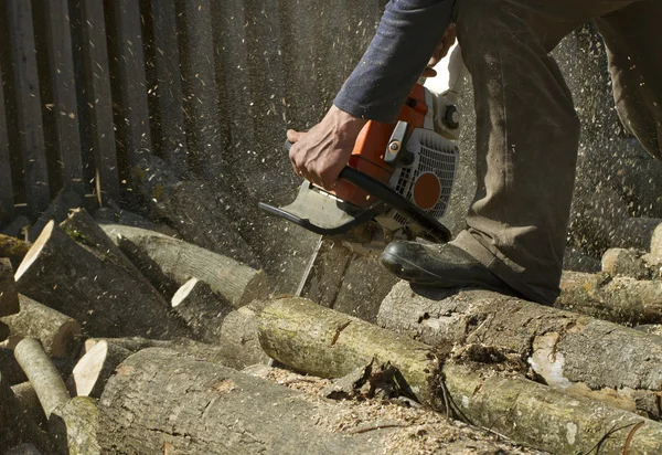
{"label": "man's front leg in brown trousers, dark boot planted on the log", "polygon": [[[634,1],[456,1],[476,97],[478,189],[452,245],[532,300],[551,304],[559,293],[579,136],[570,93],[548,52],[579,24]],[[452,247],[428,250],[423,263],[437,276],[469,269],[456,267]],[[412,258],[406,247],[385,253],[392,271],[416,276],[418,264],[393,260]]]}

